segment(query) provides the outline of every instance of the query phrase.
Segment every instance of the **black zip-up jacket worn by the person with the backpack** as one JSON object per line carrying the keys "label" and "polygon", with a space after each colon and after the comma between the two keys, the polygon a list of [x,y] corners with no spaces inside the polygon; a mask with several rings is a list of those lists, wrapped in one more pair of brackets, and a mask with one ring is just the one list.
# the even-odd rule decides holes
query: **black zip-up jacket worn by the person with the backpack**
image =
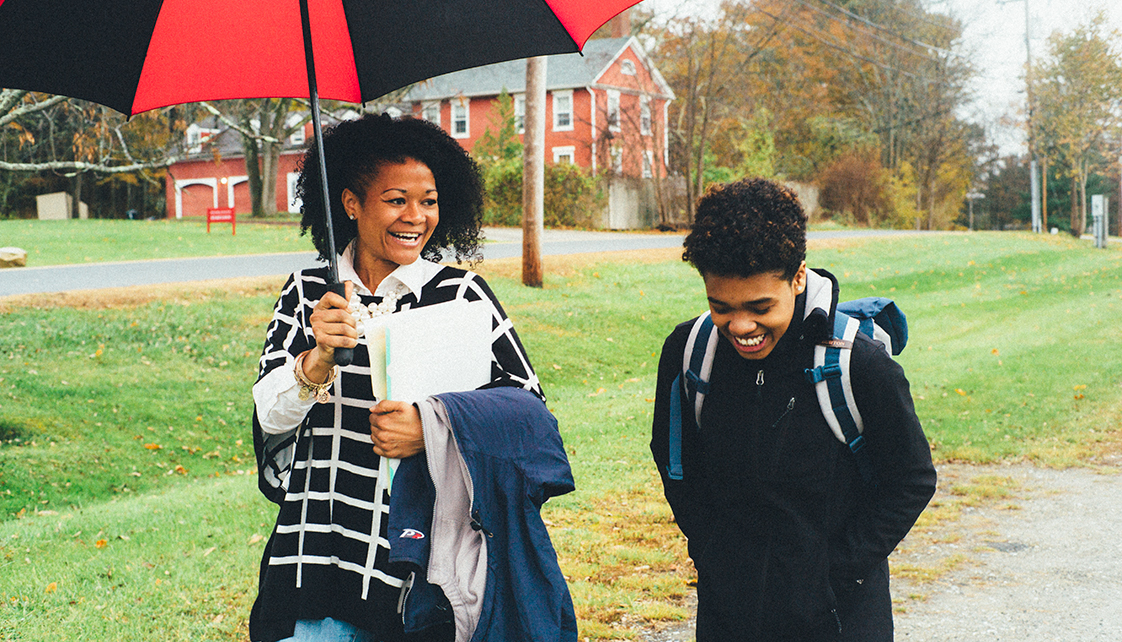
{"label": "black zip-up jacket worn by the person with the backpack", "polygon": [[885,627],[891,640],[888,578],[874,576],[935,493],[935,468],[902,368],[864,334],[852,379],[875,488],[830,431],[803,370],[829,336],[836,281],[833,301],[829,318],[803,319],[800,295],[765,359],[719,339],[701,429],[682,413],[681,480],[666,475],[670,387],[692,321],[663,345],[651,451],[698,570],[699,642],[838,640],[861,629],[874,640]]}

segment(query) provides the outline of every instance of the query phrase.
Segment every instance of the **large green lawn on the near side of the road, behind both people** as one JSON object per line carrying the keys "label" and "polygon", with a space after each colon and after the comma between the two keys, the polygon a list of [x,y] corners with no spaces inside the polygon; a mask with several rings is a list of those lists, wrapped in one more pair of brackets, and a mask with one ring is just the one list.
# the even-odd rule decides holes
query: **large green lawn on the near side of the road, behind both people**
{"label": "large green lawn on the near side of the road, behind both people", "polygon": [[[843,297],[908,313],[899,359],[937,460],[1116,451],[1116,245],[923,235],[831,241],[809,263]],[[705,309],[700,279],[680,262],[627,262],[548,275],[543,290],[490,282],[573,467],[578,490],[544,515],[581,638],[684,617],[691,571],[647,441],[662,340]],[[0,639],[245,638],[274,519],[249,432],[274,296],[0,317]]]}

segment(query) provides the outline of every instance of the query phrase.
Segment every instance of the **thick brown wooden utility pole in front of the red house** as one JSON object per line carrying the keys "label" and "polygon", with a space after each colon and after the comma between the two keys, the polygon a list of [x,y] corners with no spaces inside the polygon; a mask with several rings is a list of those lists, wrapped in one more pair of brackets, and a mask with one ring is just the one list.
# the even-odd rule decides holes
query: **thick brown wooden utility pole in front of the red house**
{"label": "thick brown wooden utility pole in front of the red house", "polygon": [[545,56],[526,58],[526,113],[522,152],[522,284],[542,286],[545,221]]}

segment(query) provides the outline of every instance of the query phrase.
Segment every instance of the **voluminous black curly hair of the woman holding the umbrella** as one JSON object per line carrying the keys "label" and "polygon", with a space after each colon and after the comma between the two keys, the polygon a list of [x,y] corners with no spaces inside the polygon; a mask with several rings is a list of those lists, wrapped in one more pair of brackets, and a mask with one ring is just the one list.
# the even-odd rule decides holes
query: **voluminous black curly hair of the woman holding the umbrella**
{"label": "voluminous black curly hair of the woman holding the umbrella", "polygon": [[[324,130],[323,156],[328,166],[337,253],[342,254],[358,235],[358,224],[343,211],[343,190],[365,199],[367,186],[383,164],[412,158],[429,167],[440,193],[440,222],[421,256],[440,260],[442,250],[451,247],[457,262],[475,263],[481,258],[484,198],[479,167],[460,144],[436,125],[410,117],[395,119],[385,113],[344,120]],[[320,258],[328,260],[331,250],[314,140],[301,162],[296,195],[304,203],[301,233],[311,233]]]}

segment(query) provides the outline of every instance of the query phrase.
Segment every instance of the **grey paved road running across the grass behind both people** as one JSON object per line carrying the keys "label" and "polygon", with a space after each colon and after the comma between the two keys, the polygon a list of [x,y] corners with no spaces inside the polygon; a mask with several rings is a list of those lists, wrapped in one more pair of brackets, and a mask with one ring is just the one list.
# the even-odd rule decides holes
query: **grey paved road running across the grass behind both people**
{"label": "grey paved road running across the grass behind both people", "polygon": [[[810,238],[873,236],[899,233],[885,230],[810,232]],[[488,228],[484,258],[522,256],[522,230]],[[579,230],[545,230],[542,253],[565,255],[681,247],[682,236],[675,233],[598,232]],[[157,283],[206,281],[238,276],[285,275],[316,265],[315,253],[264,254],[205,258],[168,258],[118,263],[91,263],[53,267],[0,269],[0,296],[131,287]]]}

